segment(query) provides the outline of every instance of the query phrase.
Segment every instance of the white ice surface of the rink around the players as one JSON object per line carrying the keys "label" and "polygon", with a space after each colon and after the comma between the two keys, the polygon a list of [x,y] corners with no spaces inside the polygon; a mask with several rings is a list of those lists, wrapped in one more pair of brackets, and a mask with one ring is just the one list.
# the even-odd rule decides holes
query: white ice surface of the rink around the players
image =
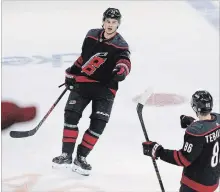
{"label": "white ice surface of the rink around the players", "polygon": [[[9,131],[32,129],[42,119],[62,92],[58,85],[87,31],[101,27],[108,7],[122,13],[118,31],[130,45],[132,70],[120,84],[110,122],[88,157],[92,174],[54,170],[51,160],[61,153],[68,94],[36,135],[13,139]],[[219,31],[185,1],[3,1],[2,100],[34,104],[38,115],[2,131],[2,191],[160,192],[152,161],[142,154],[144,135],[132,98],[148,87],[186,98],[181,105],[144,108],[150,139],[165,148],[181,148],[179,116],[195,116],[189,99],[196,90],[210,91],[214,111],[220,111],[219,51]],[[79,123],[78,142],[90,113],[89,105]],[[182,167],[157,163],[166,191],[177,192]]]}

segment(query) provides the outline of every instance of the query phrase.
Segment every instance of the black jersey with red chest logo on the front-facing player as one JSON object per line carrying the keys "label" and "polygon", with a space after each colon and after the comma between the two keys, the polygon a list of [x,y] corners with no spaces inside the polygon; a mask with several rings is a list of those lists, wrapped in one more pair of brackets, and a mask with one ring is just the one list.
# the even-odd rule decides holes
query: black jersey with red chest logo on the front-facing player
{"label": "black jersey with red chest logo on the front-facing player", "polygon": [[99,82],[117,90],[118,83],[112,81],[116,65],[123,65],[129,74],[131,62],[127,42],[119,33],[107,40],[103,29],[91,29],[84,39],[81,56],[72,66],[72,73],[77,75],[77,82]]}

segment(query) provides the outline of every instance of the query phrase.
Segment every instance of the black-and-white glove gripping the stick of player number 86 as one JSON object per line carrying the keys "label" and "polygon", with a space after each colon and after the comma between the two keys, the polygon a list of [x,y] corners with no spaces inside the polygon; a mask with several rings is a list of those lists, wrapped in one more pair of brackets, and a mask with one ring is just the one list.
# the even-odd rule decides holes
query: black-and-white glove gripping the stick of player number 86
{"label": "black-and-white glove gripping the stick of player number 86", "polygon": [[153,159],[158,159],[160,157],[160,152],[163,150],[163,147],[157,142],[143,142],[143,153],[144,155],[153,157]]}

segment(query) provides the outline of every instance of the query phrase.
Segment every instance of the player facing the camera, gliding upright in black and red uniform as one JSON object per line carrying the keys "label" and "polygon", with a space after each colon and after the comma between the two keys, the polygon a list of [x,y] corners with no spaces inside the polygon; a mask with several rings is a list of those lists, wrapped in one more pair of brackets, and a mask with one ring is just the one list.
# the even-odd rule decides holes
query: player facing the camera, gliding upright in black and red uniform
{"label": "player facing the camera, gliding upright in black and red uniform", "polygon": [[81,56],[66,70],[66,87],[71,91],[65,107],[62,154],[52,161],[57,165],[72,164],[72,153],[78,137],[78,122],[92,101],[90,126],[85,131],[72,164],[73,171],[89,175],[92,167],[86,157],[97,143],[108,123],[118,82],[131,69],[128,44],[117,32],[121,23],[118,9],[103,13],[100,29],[88,31]]}

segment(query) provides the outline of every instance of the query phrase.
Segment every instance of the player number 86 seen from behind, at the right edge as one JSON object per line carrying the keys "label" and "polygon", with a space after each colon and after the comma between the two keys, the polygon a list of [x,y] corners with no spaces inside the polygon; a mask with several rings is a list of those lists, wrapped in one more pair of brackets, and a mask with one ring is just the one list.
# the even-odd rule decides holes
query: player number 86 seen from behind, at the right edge
{"label": "player number 86 seen from behind, at the right edge", "polygon": [[184,167],[180,192],[214,192],[220,178],[220,114],[211,112],[213,99],[207,91],[196,91],[191,106],[199,120],[181,115],[186,128],[182,149],[164,149],[150,141],[142,143],[143,153]]}

